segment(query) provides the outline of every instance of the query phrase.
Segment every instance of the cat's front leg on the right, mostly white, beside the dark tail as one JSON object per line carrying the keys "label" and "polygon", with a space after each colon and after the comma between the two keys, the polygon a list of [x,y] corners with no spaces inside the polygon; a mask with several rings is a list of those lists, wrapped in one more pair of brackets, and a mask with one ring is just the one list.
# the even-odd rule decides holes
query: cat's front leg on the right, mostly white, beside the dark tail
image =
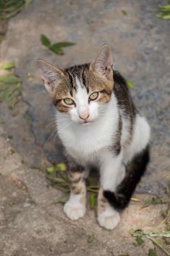
{"label": "cat's front leg on the right, mostly white, beside the dark tail", "polygon": [[97,220],[105,229],[114,229],[120,221],[119,212],[104,198],[104,190],[114,192],[118,182],[123,179],[125,168],[121,162],[122,153],[115,157],[112,153],[108,153],[107,157],[103,157],[100,167],[101,188],[97,198]]}

